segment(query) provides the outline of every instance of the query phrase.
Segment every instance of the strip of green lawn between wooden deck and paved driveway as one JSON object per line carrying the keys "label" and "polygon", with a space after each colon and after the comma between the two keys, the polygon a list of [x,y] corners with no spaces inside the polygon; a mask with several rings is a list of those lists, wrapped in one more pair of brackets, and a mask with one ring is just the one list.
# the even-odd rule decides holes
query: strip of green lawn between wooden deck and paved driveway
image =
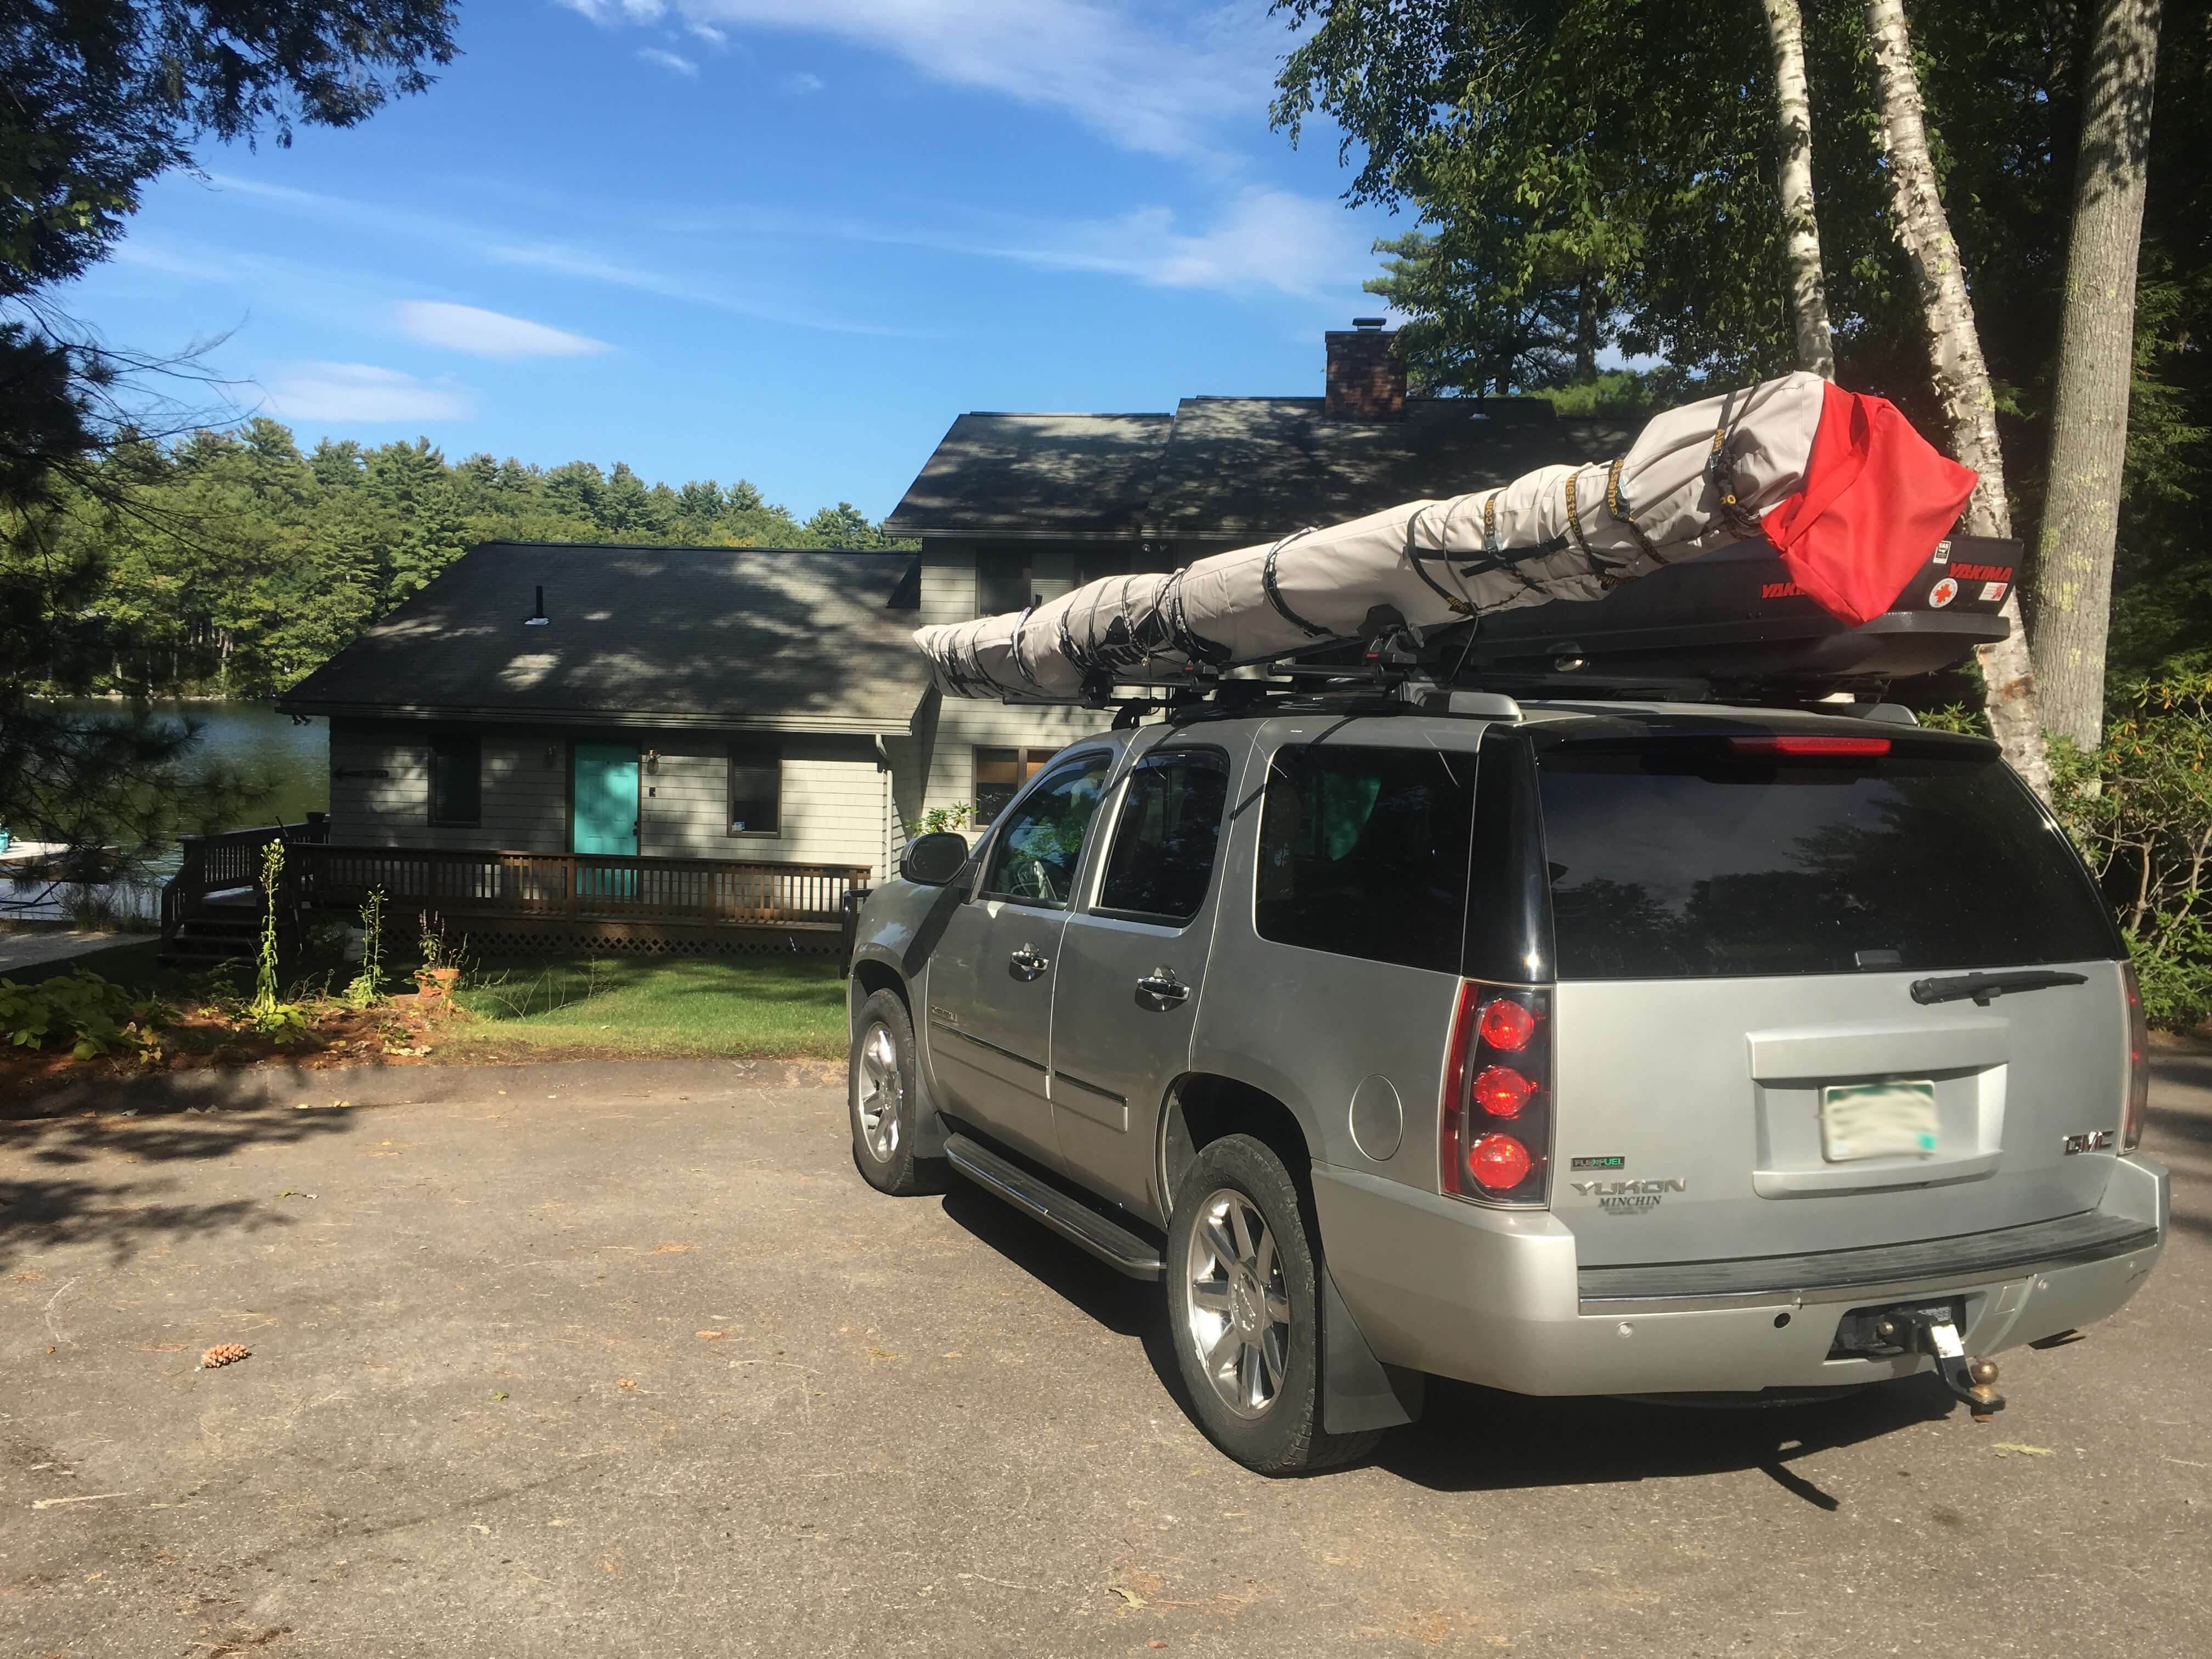
{"label": "strip of green lawn between wooden deck and paved driveway", "polygon": [[807,956],[491,958],[469,967],[471,1022],[445,1046],[639,1055],[845,1053],[845,982]]}

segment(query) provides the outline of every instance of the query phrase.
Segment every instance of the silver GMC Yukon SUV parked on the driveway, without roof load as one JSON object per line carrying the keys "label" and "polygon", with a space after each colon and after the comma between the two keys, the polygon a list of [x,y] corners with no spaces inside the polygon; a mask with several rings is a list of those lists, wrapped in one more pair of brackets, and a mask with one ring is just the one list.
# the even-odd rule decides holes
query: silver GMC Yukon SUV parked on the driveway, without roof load
{"label": "silver GMC Yukon SUV parked on the driveway, without roof load", "polygon": [[1427,1374],[1986,1418],[2159,1256],[2146,1091],[2066,836],[1889,706],[1199,706],[914,841],[852,962],[860,1172],[1164,1281],[1267,1473]]}

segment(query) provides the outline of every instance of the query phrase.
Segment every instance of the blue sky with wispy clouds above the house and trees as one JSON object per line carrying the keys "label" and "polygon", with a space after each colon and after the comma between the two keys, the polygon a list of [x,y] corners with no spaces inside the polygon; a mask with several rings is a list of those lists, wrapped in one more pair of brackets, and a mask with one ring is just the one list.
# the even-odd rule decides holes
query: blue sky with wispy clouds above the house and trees
{"label": "blue sky with wispy clouds above the house and trees", "polygon": [[241,414],[883,515],[962,409],[1318,394],[1374,310],[1263,0],[462,0],[422,97],[210,148],[69,296]]}

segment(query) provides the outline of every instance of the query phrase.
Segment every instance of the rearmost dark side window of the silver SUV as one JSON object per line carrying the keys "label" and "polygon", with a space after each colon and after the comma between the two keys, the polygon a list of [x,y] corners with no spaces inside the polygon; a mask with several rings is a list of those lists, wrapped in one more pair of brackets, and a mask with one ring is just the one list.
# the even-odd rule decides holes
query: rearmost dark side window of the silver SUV
{"label": "rearmost dark side window of the silver SUV", "polygon": [[1473,805],[1473,754],[1276,750],[1259,821],[1259,936],[1458,973]]}

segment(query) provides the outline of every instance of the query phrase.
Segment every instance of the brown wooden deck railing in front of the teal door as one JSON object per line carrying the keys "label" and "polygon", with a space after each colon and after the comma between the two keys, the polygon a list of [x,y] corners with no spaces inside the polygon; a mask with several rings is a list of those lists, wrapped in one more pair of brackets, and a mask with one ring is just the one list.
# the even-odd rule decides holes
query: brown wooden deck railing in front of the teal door
{"label": "brown wooden deck railing in front of the teal door", "polygon": [[372,887],[394,909],[597,922],[719,922],[838,929],[867,865],[765,865],[451,847],[296,847],[285,860],[301,905],[352,909]]}

